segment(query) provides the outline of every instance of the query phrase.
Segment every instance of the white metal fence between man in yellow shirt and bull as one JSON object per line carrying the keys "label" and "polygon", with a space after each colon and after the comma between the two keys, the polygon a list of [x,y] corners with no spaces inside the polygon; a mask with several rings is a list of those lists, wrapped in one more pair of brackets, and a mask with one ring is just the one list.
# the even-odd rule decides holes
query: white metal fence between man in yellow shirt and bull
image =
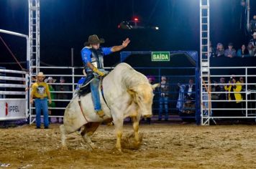
{"label": "white metal fence between man in yellow shirt and bull", "polygon": [[[38,67],[40,72],[45,74],[45,79],[52,77],[55,82],[47,84],[53,89],[50,91],[53,104],[48,107],[49,117],[63,118],[65,107],[73,98],[76,92],[76,84],[83,77],[83,67]],[[35,79],[36,74],[32,74]],[[65,79],[65,82],[60,82]],[[32,80],[32,83],[35,80]],[[31,90],[31,89],[30,89]],[[35,106],[29,105],[29,123],[35,122]]]}

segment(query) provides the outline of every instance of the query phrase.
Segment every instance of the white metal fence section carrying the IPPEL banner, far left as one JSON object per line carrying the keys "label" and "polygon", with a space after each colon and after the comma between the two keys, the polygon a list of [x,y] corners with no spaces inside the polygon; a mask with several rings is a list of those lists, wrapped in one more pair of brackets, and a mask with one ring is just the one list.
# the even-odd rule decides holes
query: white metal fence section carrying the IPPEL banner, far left
{"label": "white metal fence section carrying the IPPEL banner, far left", "polygon": [[0,120],[27,119],[28,74],[0,68]]}

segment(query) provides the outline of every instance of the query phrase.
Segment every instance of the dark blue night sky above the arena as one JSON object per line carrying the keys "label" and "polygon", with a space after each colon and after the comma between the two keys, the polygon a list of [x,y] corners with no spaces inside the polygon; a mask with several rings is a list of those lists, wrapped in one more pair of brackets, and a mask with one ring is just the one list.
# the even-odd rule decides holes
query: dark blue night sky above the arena
{"label": "dark blue night sky above the arena", "polygon": [[[247,44],[252,37],[244,32],[244,9],[240,0],[210,1],[213,46],[222,42],[226,48],[233,42],[237,49]],[[252,16],[256,14],[256,1],[251,4]],[[0,0],[0,12],[0,29],[28,34],[27,0]],[[104,38],[105,47],[122,44],[122,40],[129,37],[131,43],[125,51],[199,49],[199,0],[41,0],[40,16],[40,57],[47,64],[70,66],[73,47],[75,66],[82,66],[80,51],[90,34]],[[117,28],[121,21],[129,21],[132,16],[160,29]],[[26,60],[25,39],[0,35],[20,61]],[[0,62],[14,62],[2,42]],[[119,53],[105,57],[105,66],[116,62],[119,62]]]}

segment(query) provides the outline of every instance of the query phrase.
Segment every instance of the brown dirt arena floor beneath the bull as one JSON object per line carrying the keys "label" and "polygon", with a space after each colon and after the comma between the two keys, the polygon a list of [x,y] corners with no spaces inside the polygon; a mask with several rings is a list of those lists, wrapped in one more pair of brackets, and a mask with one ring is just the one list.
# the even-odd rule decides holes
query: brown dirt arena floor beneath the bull
{"label": "brown dirt arena floor beneath the bull", "polygon": [[[59,125],[0,129],[0,164],[6,168],[256,168],[256,126],[140,125],[142,144],[114,149],[114,126],[101,125],[90,150],[76,133],[60,148]],[[124,140],[132,125],[124,126]],[[123,144],[124,143],[123,140]],[[1,168],[1,167],[0,167]]]}

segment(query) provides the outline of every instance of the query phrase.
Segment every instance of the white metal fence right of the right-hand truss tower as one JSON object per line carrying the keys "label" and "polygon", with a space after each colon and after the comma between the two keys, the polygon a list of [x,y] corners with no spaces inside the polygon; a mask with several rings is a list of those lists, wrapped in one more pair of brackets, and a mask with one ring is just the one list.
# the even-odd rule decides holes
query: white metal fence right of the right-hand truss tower
{"label": "white metal fence right of the right-hand truss tower", "polygon": [[256,67],[210,69],[211,83],[207,85],[211,86],[211,90],[203,92],[205,97],[201,100],[201,105],[202,109],[211,109],[210,112],[202,111],[201,124],[206,125],[209,120],[216,122],[216,119],[256,118]]}

